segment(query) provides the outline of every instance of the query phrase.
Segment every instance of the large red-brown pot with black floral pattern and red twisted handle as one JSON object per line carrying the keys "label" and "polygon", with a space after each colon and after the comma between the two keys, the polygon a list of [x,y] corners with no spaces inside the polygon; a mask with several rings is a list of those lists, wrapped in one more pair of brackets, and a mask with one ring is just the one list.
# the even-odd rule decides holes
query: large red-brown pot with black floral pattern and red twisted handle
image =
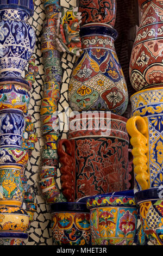
{"label": "large red-brown pot with black floral pattern and red twisted handle", "polygon": [[70,119],[67,139],[57,145],[68,202],[129,188],[126,121],[110,112],[83,112]]}

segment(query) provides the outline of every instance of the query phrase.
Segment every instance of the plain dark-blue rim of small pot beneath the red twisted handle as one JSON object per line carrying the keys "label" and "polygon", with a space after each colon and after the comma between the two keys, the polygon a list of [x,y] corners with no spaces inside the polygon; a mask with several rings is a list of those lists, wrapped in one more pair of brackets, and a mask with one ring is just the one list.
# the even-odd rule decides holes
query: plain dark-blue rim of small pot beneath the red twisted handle
{"label": "plain dark-blue rim of small pot beneath the red twisted handle", "polygon": [[50,205],[51,213],[54,212],[90,212],[86,203],[78,203],[78,202],[60,202],[54,203]]}

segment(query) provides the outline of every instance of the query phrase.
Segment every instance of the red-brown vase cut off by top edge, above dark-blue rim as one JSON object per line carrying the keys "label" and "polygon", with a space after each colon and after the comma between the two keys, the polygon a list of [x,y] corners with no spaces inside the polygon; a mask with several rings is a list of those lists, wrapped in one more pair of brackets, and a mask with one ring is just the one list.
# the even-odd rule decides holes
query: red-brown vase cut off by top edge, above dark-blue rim
{"label": "red-brown vase cut off by top edge, above dark-blue rim", "polygon": [[116,18],[116,0],[79,0],[79,12],[82,13],[82,23],[106,23],[114,27]]}

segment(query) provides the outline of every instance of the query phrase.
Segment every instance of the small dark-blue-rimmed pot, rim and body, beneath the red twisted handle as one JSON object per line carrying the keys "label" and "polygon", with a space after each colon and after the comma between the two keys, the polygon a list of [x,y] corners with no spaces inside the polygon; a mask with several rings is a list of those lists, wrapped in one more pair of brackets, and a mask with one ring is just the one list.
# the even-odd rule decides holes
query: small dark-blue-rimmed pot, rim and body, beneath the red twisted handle
{"label": "small dark-blue-rimmed pot, rim and body, beneath the red twisted handle", "polygon": [[51,204],[54,245],[90,245],[90,211],[85,203]]}

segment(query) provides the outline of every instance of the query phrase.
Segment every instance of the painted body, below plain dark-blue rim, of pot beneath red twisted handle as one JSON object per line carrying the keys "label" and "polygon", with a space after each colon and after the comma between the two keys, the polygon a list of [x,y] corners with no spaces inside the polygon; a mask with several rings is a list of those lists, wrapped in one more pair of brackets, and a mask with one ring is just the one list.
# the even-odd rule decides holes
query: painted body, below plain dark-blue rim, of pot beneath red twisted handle
{"label": "painted body, below plain dark-blue rim, of pot beneath red twisted handle", "polygon": [[54,245],[89,245],[90,214],[81,212],[52,214]]}

